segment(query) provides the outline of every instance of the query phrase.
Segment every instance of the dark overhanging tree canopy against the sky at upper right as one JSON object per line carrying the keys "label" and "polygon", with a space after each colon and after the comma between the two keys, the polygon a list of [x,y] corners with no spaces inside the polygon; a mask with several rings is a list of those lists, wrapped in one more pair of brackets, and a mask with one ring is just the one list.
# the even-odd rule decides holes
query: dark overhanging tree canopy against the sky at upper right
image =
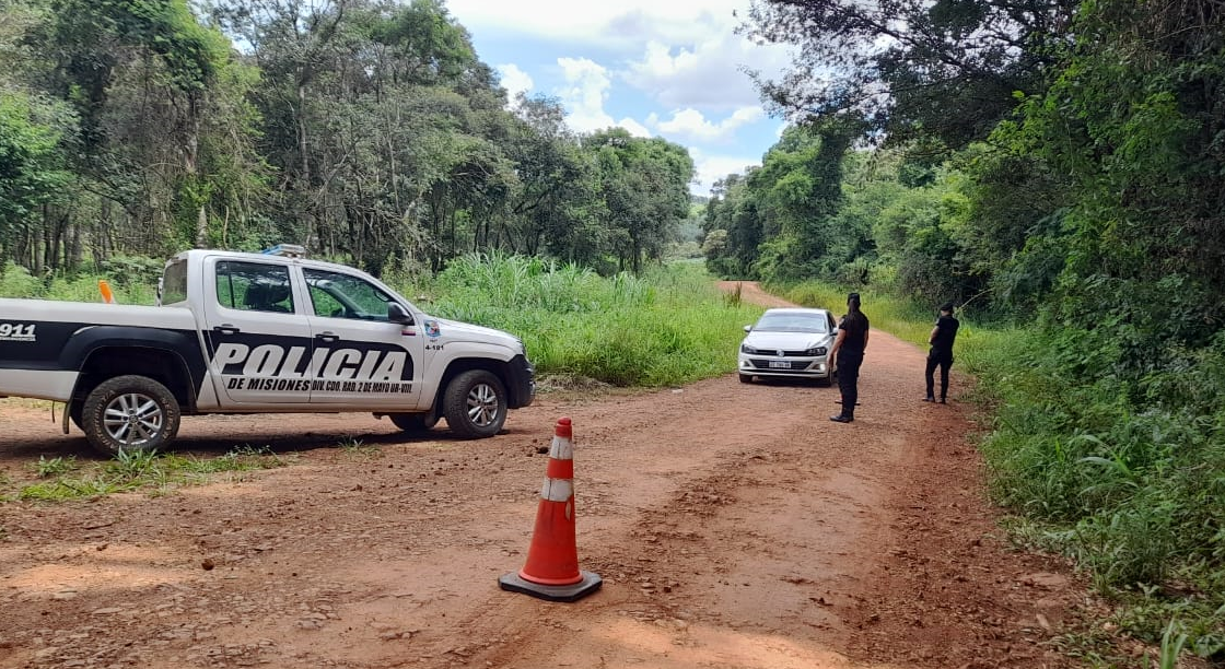
{"label": "dark overhanging tree canopy against the sky at upper right", "polygon": [[892,140],[935,136],[952,147],[982,138],[1040,92],[1052,47],[1079,0],[764,0],[747,29],[800,48],[778,81],[758,76],[779,110],[853,113]]}

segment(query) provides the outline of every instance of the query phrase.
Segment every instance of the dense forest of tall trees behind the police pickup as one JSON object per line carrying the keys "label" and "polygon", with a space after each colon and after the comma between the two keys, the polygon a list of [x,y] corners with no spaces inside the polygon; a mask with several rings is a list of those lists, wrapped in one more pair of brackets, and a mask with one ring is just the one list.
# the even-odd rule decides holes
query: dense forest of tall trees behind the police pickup
{"label": "dense forest of tall trees behind the police pickup", "polygon": [[692,173],[681,146],[507,100],[441,0],[0,1],[0,267],[293,241],[375,273],[469,251],[637,271]]}

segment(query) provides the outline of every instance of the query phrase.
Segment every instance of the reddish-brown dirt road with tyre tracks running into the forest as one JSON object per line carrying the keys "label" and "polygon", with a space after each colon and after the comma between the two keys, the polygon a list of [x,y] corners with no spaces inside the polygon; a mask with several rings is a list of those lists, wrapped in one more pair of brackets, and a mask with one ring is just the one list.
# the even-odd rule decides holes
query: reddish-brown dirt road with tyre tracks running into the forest
{"label": "reddish-brown dirt road with tyre tracks running into the forest", "polygon": [[[0,667],[1068,665],[1047,642],[1083,595],[997,537],[962,387],[920,402],[922,353],[873,332],[850,425],[828,420],[837,388],[733,374],[545,393],[483,441],[368,414],[187,418],[180,451],[292,464],[0,505]],[[604,578],[573,604],[497,587],[560,417],[579,565]],[[32,478],[39,455],[96,457],[0,403],[0,475]]]}

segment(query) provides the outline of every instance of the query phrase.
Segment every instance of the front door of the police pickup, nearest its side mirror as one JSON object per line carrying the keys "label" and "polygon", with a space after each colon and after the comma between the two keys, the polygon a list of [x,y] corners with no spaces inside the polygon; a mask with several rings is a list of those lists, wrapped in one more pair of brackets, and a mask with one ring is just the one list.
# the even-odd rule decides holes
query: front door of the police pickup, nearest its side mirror
{"label": "front door of the police pickup, nearest its side mirror", "polygon": [[420,323],[392,322],[387,304],[399,300],[356,274],[303,267],[303,277],[314,312],[311,404],[417,409],[425,370]]}

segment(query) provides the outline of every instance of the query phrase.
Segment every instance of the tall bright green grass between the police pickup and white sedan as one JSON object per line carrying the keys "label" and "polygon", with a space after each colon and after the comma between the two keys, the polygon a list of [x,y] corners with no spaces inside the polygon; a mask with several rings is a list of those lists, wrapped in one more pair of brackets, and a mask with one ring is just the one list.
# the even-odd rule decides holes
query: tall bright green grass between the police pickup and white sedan
{"label": "tall bright green grass between the police pickup and white sedan", "polygon": [[731,304],[704,270],[675,263],[603,278],[539,259],[472,255],[408,294],[435,315],[523,339],[537,371],[659,387],[735,370],[742,327],[762,309]]}

